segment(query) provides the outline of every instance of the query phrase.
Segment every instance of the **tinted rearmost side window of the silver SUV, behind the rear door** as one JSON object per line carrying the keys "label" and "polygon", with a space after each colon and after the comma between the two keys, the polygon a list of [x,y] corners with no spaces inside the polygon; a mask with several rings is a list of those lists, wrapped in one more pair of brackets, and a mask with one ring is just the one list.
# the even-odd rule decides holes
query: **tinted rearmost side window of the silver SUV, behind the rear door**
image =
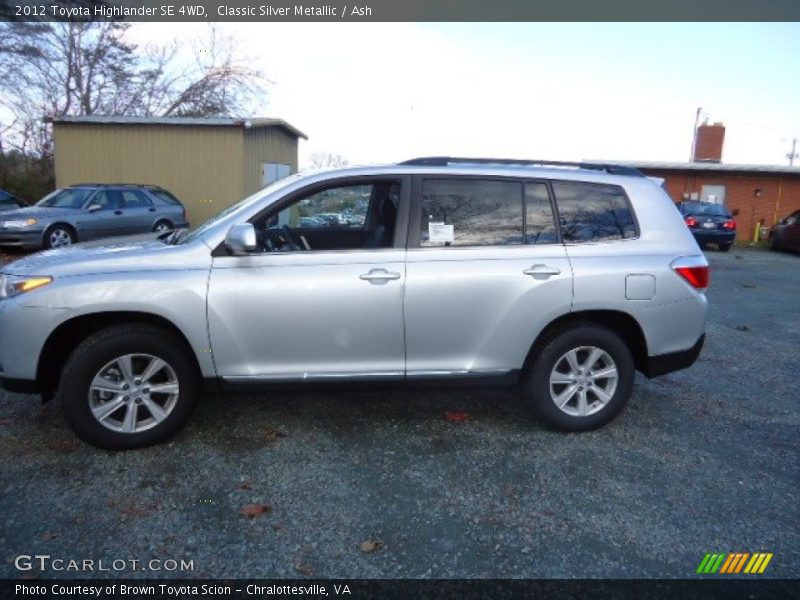
{"label": "tinted rearmost side window of the silver SUV, behind the rear door", "polygon": [[616,185],[554,181],[564,242],[605,242],[638,236],[624,190]]}

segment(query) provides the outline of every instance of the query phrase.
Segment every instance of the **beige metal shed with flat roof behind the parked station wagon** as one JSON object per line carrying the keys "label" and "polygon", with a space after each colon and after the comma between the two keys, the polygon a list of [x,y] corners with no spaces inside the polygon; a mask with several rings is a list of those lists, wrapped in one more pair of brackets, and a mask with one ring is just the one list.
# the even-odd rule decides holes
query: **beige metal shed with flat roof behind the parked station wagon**
{"label": "beige metal shed with flat roof behind the parked station wagon", "polygon": [[59,117],[52,119],[56,186],[160,185],[199,225],[297,171],[298,140],[280,119]]}

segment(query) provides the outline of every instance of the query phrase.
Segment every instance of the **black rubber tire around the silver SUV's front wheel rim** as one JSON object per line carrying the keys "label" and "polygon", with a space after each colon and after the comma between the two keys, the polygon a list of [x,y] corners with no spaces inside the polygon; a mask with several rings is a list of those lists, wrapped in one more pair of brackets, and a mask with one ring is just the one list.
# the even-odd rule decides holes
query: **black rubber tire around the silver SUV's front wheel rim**
{"label": "black rubber tire around the silver SUV's front wheel rim", "polygon": [[[172,385],[174,378],[177,383],[177,393],[152,392],[154,397],[151,397],[151,392],[147,387],[138,392],[135,389],[131,392],[120,391],[119,395],[113,399],[104,400],[101,397],[102,393],[98,395],[98,392],[90,392],[90,384],[95,376],[101,372],[107,372],[105,369],[115,359],[126,355],[136,355],[134,362],[142,365],[145,364],[144,361],[148,360],[145,358],[146,355],[163,360],[169,371],[163,370],[155,378],[159,376],[166,378],[167,385]],[[123,381],[120,380],[120,385],[122,383]],[[159,385],[156,381],[152,383],[146,381],[143,385],[151,384]],[[161,385],[165,385],[163,379]],[[126,393],[130,393],[131,396],[122,396]],[[200,378],[191,349],[173,334],[144,324],[117,325],[89,336],[72,352],[61,372],[60,394],[64,416],[78,437],[98,448],[126,450],[158,444],[169,439],[181,429],[189,419],[200,394]],[[110,405],[112,400],[120,402],[125,398],[125,403],[105,418],[110,425],[116,423],[115,419],[121,419],[121,425],[124,427],[124,418],[119,415],[128,415],[134,401],[134,394],[142,394],[143,398],[136,399],[138,406],[134,409],[133,414],[142,419],[143,428],[149,428],[131,433],[115,431],[101,423],[92,413],[90,402],[95,402],[96,408],[102,408],[105,406],[103,402]],[[143,404],[139,404],[140,400],[143,401]],[[166,416],[160,422],[156,418],[156,414],[151,413],[147,406],[147,403],[152,401],[156,403],[163,401],[163,405],[159,404],[159,406],[168,408],[165,410]],[[114,415],[118,416],[114,417]],[[148,425],[148,415],[149,420],[155,424]],[[136,417],[134,417],[134,422],[138,423],[135,419]]]}

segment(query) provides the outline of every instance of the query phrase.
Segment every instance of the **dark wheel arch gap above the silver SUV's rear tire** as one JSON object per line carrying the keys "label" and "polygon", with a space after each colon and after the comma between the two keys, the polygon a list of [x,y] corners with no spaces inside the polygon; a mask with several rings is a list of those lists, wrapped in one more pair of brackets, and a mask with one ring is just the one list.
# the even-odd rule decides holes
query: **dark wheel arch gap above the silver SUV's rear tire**
{"label": "dark wheel arch gap above the silver SUV's rear tire", "polygon": [[622,338],[633,356],[636,370],[647,370],[647,339],[639,322],[630,314],[618,310],[583,310],[570,312],[557,317],[542,329],[531,344],[523,363],[523,372],[530,369],[544,345],[560,331],[579,324],[590,323],[606,327]]}

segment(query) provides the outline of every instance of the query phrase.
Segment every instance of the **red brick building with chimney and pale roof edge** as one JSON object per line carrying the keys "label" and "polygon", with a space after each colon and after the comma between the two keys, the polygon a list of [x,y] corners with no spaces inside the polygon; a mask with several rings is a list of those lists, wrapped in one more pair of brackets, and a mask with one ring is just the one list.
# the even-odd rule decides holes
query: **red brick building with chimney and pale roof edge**
{"label": "red brick building with chimney and pale roof edge", "polygon": [[626,162],[645,175],[664,179],[675,202],[702,200],[728,208],[736,219],[737,241],[754,239],[757,226],[771,226],[800,209],[800,168],[733,165],[722,162],[725,127],[697,128],[692,162]]}

